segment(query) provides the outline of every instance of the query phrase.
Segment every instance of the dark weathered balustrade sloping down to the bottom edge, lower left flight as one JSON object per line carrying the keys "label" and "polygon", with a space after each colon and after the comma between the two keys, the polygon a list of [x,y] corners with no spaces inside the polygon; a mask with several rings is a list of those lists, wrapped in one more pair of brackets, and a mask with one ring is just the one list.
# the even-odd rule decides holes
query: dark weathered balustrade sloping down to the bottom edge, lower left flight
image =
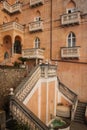
{"label": "dark weathered balustrade sloping down to the bottom edge, lower left flight", "polygon": [[[12,115],[23,123],[28,124],[33,130],[49,130],[49,128],[36,116],[32,111],[30,111],[22,102],[20,102],[16,97],[11,97],[10,109]],[[31,125],[32,123],[32,125]]]}

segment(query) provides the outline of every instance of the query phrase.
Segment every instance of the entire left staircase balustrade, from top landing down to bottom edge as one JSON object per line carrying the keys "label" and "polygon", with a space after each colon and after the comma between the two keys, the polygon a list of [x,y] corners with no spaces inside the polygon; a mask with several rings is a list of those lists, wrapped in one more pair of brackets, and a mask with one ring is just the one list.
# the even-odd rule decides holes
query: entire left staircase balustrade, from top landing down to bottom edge
{"label": "entire left staircase balustrade, from top landing down to bottom edge", "polygon": [[10,112],[12,117],[23,124],[28,124],[31,130],[49,130],[32,111],[27,109],[24,100],[31,93],[38,80],[43,77],[57,76],[56,66],[37,65],[27,77],[15,89],[14,95],[10,98]]}

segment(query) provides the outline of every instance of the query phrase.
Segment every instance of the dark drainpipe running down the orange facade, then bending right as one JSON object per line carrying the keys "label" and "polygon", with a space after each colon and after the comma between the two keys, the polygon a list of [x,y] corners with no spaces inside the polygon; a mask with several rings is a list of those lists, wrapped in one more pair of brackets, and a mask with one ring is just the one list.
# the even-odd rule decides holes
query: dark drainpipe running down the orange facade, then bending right
{"label": "dark drainpipe running down the orange facade, then bending right", "polygon": [[53,31],[53,28],[52,28],[52,10],[53,10],[53,7],[52,7],[52,0],[51,0],[51,6],[50,6],[50,60],[51,61],[55,61],[55,62],[67,62],[67,63],[77,63],[77,64],[87,64],[87,62],[77,62],[77,61],[70,61],[70,60],[63,60],[63,59],[53,59],[52,58],[52,31]]}

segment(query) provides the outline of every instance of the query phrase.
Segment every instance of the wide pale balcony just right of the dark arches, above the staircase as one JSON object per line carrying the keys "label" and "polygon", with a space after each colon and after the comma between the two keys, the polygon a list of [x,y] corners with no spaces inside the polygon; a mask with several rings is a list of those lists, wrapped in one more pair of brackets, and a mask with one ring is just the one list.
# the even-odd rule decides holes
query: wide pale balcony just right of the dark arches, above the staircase
{"label": "wide pale balcony just right of the dark arches, above the staircase", "polygon": [[22,57],[28,59],[44,59],[44,50],[43,49],[23,49]]}

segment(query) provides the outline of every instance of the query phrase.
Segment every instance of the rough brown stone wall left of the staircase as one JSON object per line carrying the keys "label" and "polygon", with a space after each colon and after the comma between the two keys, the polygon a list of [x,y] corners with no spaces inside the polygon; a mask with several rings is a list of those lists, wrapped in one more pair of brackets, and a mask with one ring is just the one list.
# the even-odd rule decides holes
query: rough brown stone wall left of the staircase
{"label": "rough brown stone wall left of the staircase", "polygon": [[10,88],[15,89],[25,76],[25,69],[0,67],[0,108],[2,108],[6,97],[9,95]]}

